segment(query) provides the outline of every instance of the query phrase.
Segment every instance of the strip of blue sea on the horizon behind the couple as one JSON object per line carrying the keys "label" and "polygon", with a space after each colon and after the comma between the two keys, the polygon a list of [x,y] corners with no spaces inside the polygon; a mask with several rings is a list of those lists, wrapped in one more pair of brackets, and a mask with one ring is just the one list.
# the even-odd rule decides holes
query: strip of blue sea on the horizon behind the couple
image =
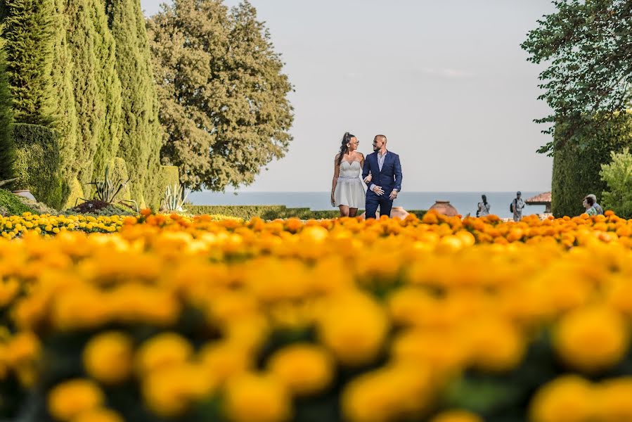
{"label": "strip of blue sea on the horizon behind the couple", "polygon": [[[522,198],[527,200],[540,192],[523,191]],[[514,192],[406,192],[399,193],[394,206],[404,210],[427,210],[435,200],[449,200],[461,215],[476,215],[477,203],[481,195],[486,194],[491,205],[490,214],[498,217],[511,217],[509,205]],[[330,204],[329,192],[242,192],[218,193],[211,191],[191,192],[188,200],[195,205],[285,205],[291,208],[305,207],[311,210],[335,210]],[[541,214],[544,205],[527,205],[522,215]]]}

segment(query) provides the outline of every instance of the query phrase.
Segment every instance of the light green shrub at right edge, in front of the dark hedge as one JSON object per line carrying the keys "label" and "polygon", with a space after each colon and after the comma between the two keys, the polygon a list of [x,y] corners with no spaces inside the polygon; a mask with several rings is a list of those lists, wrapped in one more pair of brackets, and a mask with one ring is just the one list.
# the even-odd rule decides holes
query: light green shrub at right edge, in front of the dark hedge
{"label": "light green shrub at right edge, in front of the dark hedge", "polygon": [[610,153],[610,164],[602,164],[600,176],[607,191],[603,192],[602,207],[613,210],[619,217],[632,217],[632,154],[629,148]]}

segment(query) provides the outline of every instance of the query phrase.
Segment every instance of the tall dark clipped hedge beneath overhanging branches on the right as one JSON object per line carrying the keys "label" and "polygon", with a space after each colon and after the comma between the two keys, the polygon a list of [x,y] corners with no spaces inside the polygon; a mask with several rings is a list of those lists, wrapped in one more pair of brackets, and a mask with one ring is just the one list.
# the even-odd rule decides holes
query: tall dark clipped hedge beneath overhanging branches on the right
{"label": "tall dark clipped hedge beneath overhanging branches on the right", "polygon": [[555,217],[585,212],[581,200],[589,193],[601,199],[607,190],[599,172],[610,162],[610,152],[632,147],[632,115],[625,113],[602,119],[586,128],[581,140],[557,146],[553,158],[552,211]]}

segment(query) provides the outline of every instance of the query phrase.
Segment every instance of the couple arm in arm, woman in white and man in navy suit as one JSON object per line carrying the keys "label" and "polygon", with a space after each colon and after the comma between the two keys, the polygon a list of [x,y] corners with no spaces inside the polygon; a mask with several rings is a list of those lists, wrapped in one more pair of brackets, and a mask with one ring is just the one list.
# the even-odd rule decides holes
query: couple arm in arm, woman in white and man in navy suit
{"label": "couple arm in arm, woman in white and man in navy suit", "polygon": [[[344,134],[334,161],[331,205],[340,208],[341,217],[356,217],[361,207],[366,209],[366,218],[375,218],[378,207],[380,215],[390,217],[393,200],[401,191],[399,155],[387,150],[384,135],[375,136],[373,153],[366,160],[357,151],[358,146],[356,136]],[[362,181],[366,183],[366,191]]]}

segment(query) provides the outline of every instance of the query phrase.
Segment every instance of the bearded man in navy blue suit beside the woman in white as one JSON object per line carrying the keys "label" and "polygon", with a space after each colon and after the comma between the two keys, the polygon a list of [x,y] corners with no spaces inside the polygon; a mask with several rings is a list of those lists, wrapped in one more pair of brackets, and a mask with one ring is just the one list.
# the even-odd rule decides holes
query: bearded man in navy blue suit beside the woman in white
{"label": "bearded man in navy blue suit beside the woman in white", "polygon": [[375,218],[380,207],[380,216],[390,217],[393,200],[401,191],[401,164],[399,155],[387,151],[386,136],[373,139],[373,153],[366,156],[362,169],[362,179],[371,174],[366,190],[366,218]]}

